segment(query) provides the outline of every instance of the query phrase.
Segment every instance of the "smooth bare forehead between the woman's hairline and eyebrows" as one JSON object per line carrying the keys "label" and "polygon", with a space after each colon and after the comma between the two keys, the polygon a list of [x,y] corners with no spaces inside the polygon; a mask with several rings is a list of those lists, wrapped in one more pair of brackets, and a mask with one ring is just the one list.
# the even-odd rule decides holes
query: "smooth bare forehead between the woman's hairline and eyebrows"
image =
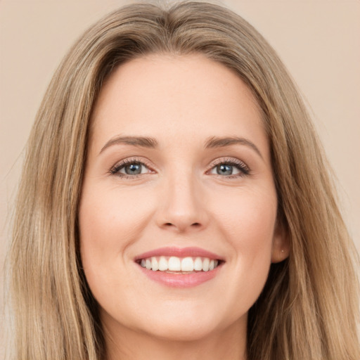
{"label": "smooth bare forehead between the woman's hairline and eyebrows", "polygon": [[[151,55],[120,65],[92,116],[97,148],[118,134],[195,141],[247,136],[267,146],[261,110],[229,68],[201,55]],[[261,138],[261,139],[260,139]]]}

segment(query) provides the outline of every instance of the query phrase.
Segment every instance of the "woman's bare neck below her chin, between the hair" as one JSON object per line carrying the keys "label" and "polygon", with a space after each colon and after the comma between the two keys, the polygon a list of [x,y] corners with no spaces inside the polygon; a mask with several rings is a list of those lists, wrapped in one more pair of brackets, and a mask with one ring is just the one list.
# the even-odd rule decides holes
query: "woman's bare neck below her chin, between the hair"
{"label": "woman's bare neck below her chin, between the hair", "polygon": [[196,340],[158,338],[120,327],[117,323],[116,330],[109,324],[105,328],[107,360],[142,360],[144,356],[157,360],[246,359],[246,321]]}

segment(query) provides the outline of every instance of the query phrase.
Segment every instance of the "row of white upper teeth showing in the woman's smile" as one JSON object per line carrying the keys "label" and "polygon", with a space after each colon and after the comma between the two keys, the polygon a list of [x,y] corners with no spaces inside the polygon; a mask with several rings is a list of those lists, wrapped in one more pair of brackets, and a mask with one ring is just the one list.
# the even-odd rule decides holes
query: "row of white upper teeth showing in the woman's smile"
{"label": "row of white upper teeth showing in the woman's smile", "polygon": [[149,257],[141,259],[141,266],[153,271],[212,271],[219,265],[219,260],[208,257]]}

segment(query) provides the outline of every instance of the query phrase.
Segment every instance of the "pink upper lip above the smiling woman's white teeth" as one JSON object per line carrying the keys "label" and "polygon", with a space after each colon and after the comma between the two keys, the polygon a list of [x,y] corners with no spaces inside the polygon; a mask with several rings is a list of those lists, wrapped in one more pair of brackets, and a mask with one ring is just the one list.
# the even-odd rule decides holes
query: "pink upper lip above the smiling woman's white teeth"
{"label": "pink upper lip above the smiling woman's white teeth", "polygon": [[176,257],[209,257],[210,259],[217,259],[224,261],[224,257],[201,248],[188,247],[188,248],[175,248],[165,247],[143,252],[143,254],[135,257],[135,261],[146,259],[153,256],[176,256]]}

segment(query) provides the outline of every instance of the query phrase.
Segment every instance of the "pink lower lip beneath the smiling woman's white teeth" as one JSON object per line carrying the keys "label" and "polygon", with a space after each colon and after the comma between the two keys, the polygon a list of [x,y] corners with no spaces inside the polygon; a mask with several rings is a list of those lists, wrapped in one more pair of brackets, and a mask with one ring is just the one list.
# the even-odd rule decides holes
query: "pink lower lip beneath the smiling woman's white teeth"
{"label": "pink lower lip beneath the smiling woman's white teeth", "polygon": [[198,286],[206,281],[210,281],[217,276],[222,265],[223,264],[219,264],[214,270],[199,271],[193,274],[169,274],[165,271],[148,270],[141,265],[139,265],[139,267],[148,278],[162,285],[171,288],[192,288],[193,286]]}

